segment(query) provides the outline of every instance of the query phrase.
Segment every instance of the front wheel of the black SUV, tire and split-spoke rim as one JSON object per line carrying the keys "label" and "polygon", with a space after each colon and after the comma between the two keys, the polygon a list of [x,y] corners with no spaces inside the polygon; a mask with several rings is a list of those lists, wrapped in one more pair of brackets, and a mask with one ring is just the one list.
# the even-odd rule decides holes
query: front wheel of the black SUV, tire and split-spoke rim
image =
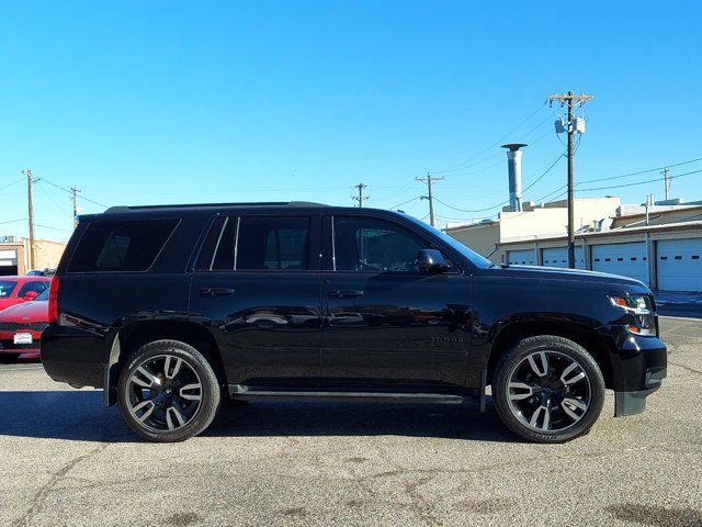
{"label": "front wheel of the black SUV, tire and split-spoke rim", "polygon": [[565,442],[595,425],[604,404],[604,379],[580,345],[542,335],[519,341],[500,357],[492,399],[505,426],[521,438]]}

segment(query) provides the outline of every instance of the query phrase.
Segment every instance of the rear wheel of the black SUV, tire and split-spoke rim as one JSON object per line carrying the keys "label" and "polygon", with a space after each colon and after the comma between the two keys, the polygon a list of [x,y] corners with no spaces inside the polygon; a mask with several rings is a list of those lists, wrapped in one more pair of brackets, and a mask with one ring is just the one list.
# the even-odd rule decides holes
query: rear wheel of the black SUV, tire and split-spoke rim
{"label": "rear wheel of the black SUV, tire and split-spoke rim", "polygon": [[132,354],[125,365],[117,383],[120,413],[144,439],[183,441],[215,418],[222,389],[210,361],[192,346],[156,340]]}

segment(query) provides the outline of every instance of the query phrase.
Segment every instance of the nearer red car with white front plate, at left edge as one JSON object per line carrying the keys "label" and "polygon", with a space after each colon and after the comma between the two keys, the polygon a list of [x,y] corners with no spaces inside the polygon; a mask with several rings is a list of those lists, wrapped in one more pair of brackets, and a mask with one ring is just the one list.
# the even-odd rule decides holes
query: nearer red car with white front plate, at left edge
{"label": "nearer red car with white front plate, at left edge", "polygon": [[42,332],[48,325],[48,290],[36,300],[0,311],[0,359],[38,359]]}

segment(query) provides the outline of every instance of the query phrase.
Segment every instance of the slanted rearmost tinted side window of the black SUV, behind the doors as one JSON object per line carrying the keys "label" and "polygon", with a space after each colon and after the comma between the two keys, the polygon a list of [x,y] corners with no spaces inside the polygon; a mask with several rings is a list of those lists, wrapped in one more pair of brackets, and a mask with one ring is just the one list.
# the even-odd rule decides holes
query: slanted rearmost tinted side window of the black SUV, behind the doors
{"label": "slanted rearmost tinted side window of the black SUV, behind the doors", "polygon": [[83,233],[68,272],[146,271],[179,220],[93,222]]}

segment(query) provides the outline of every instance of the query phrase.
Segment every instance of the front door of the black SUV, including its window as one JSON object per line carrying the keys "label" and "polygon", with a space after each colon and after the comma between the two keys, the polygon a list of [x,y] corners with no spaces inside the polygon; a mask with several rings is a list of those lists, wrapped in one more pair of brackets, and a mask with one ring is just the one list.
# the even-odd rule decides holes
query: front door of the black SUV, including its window
{"label": "front door of the black SUV, including its window", "polygon": [[471,336],[469,277],[420,272],[431,243],[373,215],[326,216],[322,382],[338,388],[463,385]]}

